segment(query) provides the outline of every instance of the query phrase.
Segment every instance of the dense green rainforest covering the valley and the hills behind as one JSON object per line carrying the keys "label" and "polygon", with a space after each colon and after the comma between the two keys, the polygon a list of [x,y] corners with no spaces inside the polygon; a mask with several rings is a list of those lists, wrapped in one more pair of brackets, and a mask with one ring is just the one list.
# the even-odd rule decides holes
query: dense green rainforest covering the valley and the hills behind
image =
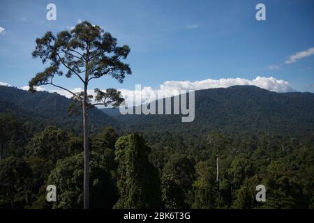
{"label": "dense green rainforest covering the valley and the hills behind", "polygon": [[[70,100],[0,93],[0,208],[82,208],[83,141]],[[190,124],[92,110],[91,208],[314,208],[313,94],[235,86],[197,91],[195,102]],[[255,200],[260,184],[265,202]],[[46,201],[47,185],[57,202]]]}

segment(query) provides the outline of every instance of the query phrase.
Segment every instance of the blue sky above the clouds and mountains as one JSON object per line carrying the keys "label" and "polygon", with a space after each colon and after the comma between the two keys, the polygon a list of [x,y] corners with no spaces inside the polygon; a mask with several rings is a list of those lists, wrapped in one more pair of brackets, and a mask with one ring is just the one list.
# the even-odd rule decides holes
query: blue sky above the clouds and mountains
{"label": "blue sky above the clouds and mountains", "polygon": [[[56,4],[57,21],[46,20],[48,3]],[[265,4],[266,21],[255,20],[257,3]],[[131,48],[126,62],[133,75],[124,84],[104,77],[91,89],[135,89],[135,84],[157,89],[165,81],[260,76],[314,92],[312,0],[1,0],[0,82],[27,86],[45,68],[31,57],[35,39],[70,29],[78,20],[102,26]],[[295,54],[295,61],[285,63]],[[73,78],[60,78],[69,89],[82,87]]]}

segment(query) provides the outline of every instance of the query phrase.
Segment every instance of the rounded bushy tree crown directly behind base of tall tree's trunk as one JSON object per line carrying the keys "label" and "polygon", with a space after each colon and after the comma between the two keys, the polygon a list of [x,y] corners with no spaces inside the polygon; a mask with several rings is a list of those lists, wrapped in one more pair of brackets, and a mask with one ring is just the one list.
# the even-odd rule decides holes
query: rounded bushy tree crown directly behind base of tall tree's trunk
{"label": "rounded bushy tree crown directly behind base of tall tree's trunk", "polygon": [[[83,208],[83,164],[82,153],[57,162],[47,180],[48,184],[57,187],[57,202],[53,208]],[[102,155],[91,153],[91,208],[112,208],[117,201],[117,190],[106,166]]]}

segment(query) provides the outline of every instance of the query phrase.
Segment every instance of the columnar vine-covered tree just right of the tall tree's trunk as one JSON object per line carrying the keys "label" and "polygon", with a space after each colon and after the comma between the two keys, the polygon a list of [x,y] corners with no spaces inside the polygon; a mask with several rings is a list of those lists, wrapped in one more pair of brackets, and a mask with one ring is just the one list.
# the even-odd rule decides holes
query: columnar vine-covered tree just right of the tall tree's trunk
{"label": "columnar vine-covered tree just right of the tall tree's trunk", "polygon": [[138,134],[120,137],[116,143],[119,201],[115,208],[160,208],[160,179],[149,162],[150,148]]}

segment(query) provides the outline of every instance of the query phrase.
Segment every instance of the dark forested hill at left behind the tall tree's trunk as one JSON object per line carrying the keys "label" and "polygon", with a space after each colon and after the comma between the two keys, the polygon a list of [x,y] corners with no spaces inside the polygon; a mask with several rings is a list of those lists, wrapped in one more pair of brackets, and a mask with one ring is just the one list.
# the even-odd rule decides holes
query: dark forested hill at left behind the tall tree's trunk
{"label": "dark forested hill at left behind the tall tree's trunk", "polygon": [[[57,125],[75,132],[82,131],[82,116],[69,116],[71,100],[57,93],[38,91],[30,93],[15,87],[0,86],[0,112],[13,113],[38,125]],[[117,128],[117,122],[99,109],[89,111],[92,131],[105,125]]]}

